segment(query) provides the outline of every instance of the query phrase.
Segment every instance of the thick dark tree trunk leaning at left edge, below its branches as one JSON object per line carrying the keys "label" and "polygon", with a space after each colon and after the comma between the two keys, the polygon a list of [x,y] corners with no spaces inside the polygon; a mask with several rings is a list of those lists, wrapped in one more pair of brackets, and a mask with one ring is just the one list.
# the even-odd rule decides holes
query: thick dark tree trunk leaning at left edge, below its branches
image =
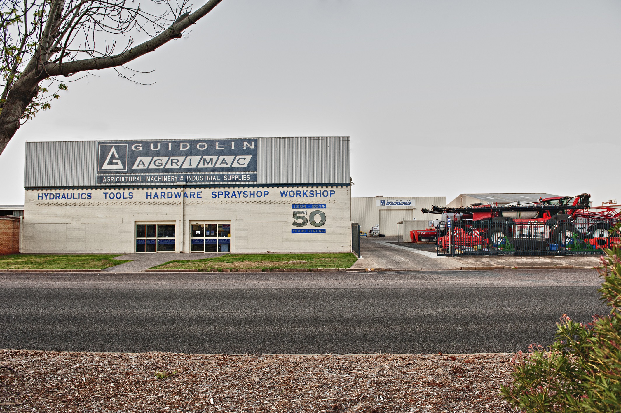
{"label": "thick dark tree trunk leaning at left edge, below its branches", "polygon": [[24,75],[11,88],[0,112],[0,154],[19,129],[19,121],[32,99],[37,96],[42,80],[43,78],[30,78],[29,75]]}

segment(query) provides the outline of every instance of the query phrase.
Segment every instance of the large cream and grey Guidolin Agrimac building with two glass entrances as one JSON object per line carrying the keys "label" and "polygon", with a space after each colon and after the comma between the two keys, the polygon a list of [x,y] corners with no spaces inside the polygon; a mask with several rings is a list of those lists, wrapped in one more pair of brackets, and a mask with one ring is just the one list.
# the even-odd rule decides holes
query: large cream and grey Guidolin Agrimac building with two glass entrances
{"label": "large cream and grey Guidolin Agrimac building with two glass entrances", "polygon": [[348,137],[27,142],[24,253],[349,252]]}

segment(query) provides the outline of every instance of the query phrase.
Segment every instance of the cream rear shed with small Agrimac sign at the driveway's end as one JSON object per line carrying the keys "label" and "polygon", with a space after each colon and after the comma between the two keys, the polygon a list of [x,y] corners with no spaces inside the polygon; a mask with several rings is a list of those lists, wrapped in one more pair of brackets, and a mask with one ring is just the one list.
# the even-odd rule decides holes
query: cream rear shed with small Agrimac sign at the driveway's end
{"label": "cream rear shed with small Agrimac sign at the driveway's end", "polygon": [[351,198],[351,219],[360,223],[360,230],[369,232],[379,225],[386,236],[406,235],[410,230],[425,229],[434,216],[420,212],[433,205],[446,206],[445,196],[355,197]]}

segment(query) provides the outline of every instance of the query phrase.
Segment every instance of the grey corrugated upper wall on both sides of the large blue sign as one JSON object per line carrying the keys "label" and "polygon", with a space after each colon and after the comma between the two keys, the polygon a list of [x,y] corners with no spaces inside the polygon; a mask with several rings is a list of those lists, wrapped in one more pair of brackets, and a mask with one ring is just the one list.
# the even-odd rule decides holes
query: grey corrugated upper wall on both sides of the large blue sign
{"label": "grey corrugated upper wall on both sides of the large blue sign", "polygon": [[[96,186],[97,142],[26,142],[25,188]],[[257,169],[259,184],[348,184],[350,138],[258,138]]]}

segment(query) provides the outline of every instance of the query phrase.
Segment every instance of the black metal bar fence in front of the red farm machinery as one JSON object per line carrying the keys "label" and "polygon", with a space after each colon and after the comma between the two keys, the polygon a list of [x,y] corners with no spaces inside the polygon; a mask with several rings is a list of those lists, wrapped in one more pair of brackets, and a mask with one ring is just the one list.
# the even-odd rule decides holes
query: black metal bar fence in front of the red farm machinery
{"label": "black metal bar fence in front of the red farm machinery", "polygon": [[461,220],[440,222],[437,255],[601,255],[621,241],[605,220]]}

